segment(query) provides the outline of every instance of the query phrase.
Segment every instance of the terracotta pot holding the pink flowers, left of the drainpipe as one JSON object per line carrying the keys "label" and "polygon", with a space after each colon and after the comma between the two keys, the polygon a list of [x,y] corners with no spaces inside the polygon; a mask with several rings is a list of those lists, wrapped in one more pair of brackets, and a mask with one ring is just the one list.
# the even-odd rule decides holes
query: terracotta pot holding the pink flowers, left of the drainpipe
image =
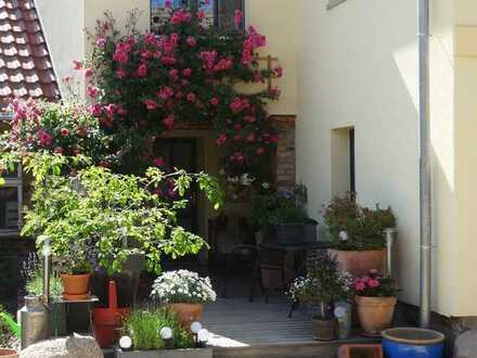
{"label": "terracotta pot holding the pink flowers, left of the drainpipe", "polygon": [[390,328],[397,302],[396,297],[356,296],[354,303],[363,333],[379,336],[382,331]]}

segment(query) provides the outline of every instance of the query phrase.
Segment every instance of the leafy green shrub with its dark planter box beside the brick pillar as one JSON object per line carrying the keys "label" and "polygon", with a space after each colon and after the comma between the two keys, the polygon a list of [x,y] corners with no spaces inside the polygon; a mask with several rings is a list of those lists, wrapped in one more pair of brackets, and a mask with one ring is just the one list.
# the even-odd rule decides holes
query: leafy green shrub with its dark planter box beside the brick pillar
{"label": "leafy green shrub with its dark planter box beside the brick pillar", "polygon": [[309,218],[307,188],[265,189],[254,195],[253,220],[275,244],[293,245],[317,241],[318,222]]}

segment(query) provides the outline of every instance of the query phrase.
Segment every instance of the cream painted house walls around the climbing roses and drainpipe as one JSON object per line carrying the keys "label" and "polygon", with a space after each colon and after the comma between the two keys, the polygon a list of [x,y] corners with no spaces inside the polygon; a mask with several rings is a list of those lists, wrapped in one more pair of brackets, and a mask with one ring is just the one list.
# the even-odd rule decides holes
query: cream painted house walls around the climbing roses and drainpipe
{"label": "cream painted house walls around the climbing roses and drainpipe", "polygon": [[[119,24],[132,8],[149,26],[149,0],[37,0],[59,77],[90,51],[78,28],[111,10]],[[310,215],[338,191],[343,145],[356,130],[359,201],[391,205],[401,299],[418,303],[418,117],[416,1],[246,0],[247,25],[267,35],[263,55],[279,59],[283,95],[273,114],[297,115],[297,180],[309,188]],[[434,158],[433,308],[477,316],[477,3],[434,0],[431,144]],[[61,21],[57,21],[57,17]],[[67,26],[72,24],[72,26]],[[68,41],[65,41],[67,36]],[[341,161],[341,162],[340,162]]]}

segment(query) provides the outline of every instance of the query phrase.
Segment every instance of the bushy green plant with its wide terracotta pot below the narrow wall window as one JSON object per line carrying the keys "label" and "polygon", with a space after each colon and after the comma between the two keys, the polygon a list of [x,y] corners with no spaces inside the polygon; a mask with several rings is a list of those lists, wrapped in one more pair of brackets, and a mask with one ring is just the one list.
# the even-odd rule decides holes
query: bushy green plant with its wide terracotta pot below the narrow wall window
{"label": "bushy green plant with its wide terracotta pot below the narrow wall window", "polygon": [[336,196],[323,210],[333,248],[344,270],[362,277],[371,269],[384,273],[386,230],[396,227],[390,208],[360,206],[354,195]]}

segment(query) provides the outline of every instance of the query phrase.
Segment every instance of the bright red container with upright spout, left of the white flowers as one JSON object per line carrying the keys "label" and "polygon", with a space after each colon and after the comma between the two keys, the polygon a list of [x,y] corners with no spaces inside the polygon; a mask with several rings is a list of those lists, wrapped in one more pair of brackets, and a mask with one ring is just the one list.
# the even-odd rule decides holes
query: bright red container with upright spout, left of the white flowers
{"label": "bright red container with upright spout, left of the white flowers", "polygon": [[94,308],[94,337],[101,348],[113,346],[119,338],[123,320],[130,314],[129,308],[117,307],[117,287],[115,281],[109,281],[107,308]]}

